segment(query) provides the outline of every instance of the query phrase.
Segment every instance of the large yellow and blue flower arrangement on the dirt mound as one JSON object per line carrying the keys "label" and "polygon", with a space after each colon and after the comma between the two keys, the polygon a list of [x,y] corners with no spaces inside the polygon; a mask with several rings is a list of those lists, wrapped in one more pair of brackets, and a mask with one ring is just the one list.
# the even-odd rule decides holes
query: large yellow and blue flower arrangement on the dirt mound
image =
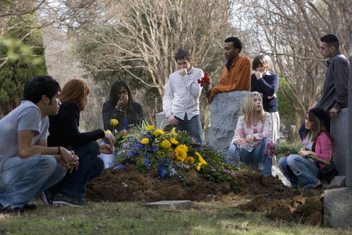
{"label": "large yellow and blue flower arrangement on the dirt mound", "polygon": [[237,166],[226,155],[208,143],[196,144],[189,133],[164,131],[143,122],[130,126],[130,133],[123,137],[121,148],[113,162],[114,168],[133,164],[139,172],[158,170],[160,177],[176,177],[183,181],[193,168],[216,183],[228,182],[239,188],[237,174],[244,168]]}

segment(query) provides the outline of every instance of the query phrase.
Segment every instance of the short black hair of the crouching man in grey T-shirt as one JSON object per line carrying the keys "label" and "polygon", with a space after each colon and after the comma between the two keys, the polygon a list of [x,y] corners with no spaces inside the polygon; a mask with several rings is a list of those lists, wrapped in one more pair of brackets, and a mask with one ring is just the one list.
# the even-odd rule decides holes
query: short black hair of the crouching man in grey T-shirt
{"label": "short black hair of the crouching man in grey T-shirt", "polygon": [[25,84],[23,100],[30,100],[36,104],[44,95],[51,100],[58,91],[60,91],[60,85],[54,78],[51,78],[51,76],[36,76]]}

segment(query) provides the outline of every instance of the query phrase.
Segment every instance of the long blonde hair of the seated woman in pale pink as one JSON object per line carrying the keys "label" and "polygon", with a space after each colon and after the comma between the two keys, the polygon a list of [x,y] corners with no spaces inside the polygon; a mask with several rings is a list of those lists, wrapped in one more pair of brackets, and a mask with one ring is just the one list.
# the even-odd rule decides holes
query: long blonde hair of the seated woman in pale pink
{"label": "long blonde hair of the seated woman in pale pink", "polygon": [[261,98],[261,95],[257,91],[250,92],[247,96],[244,97],[242,105],[241,105],[241,112],[246,118],[246,125],[247,127],[250,126],[250,122],[253,121],[253,100],[254,97],[258,96],[260,101],[261,101],[261,109],[259,111],[259,119],[261,122],[264,122],[264,111],[263,111],[263,99]]}

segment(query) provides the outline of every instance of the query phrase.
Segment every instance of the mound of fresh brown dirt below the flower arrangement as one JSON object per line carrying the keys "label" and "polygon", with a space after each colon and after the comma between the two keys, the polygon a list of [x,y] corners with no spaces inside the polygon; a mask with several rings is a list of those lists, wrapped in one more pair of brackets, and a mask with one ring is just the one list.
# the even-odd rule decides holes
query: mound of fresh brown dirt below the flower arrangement
{"label": "mound of fresh brown dirt below the flower arrangement", "polygon": [[156,170],[141,174],[134,166],[125,169],[108,168],[91,181],[86,188],[86,198],[95,201],[163,200],[231,202],[239,197],[249,199],[238,205],[242,210],[267,212],[270,219],[300,221],[309,225],[322,222],[323,190],[288,188],[278,177],[263,177],[255,172],[239,174],[244,190],[233,192],[228,183],[213,183],[195,170],[187,172],[188,182],[161,178]]}

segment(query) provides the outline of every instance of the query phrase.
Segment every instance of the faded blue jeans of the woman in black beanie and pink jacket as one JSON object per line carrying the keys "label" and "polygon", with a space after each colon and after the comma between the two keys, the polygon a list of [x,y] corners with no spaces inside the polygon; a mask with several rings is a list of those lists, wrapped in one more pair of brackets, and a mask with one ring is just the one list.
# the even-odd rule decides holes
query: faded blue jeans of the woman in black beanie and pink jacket
{"label": "faded blue jeans of the woman in black beanie and pink jacket", "polygon": [[277,162],[283,175],[291,182],[292,188],[298,188],[298,181],[305,188],[315,186],[319,179],[315,161],[299,155],[281,157]]}

